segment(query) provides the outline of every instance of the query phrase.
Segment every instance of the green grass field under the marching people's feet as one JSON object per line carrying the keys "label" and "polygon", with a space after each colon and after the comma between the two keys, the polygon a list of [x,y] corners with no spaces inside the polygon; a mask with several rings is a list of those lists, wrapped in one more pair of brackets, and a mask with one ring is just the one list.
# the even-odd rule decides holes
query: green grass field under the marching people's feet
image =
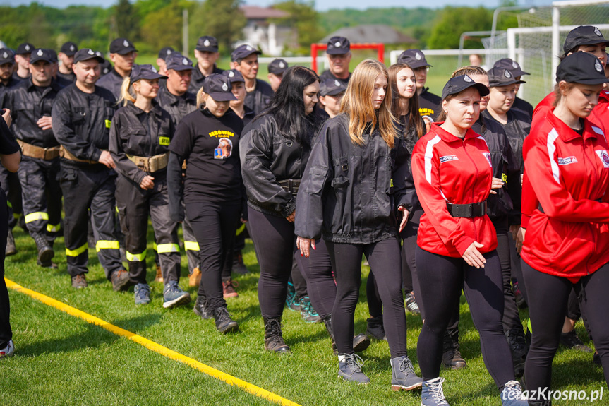
{"label": "green grass field under the marching people's feet", "polygon": [[[89,250],[89,287],[75,290],[66,274],[63,239],[55,245],[59,270],[35,265],[35,244],[15,229],[18,254],[6,260],[6,277],[104,321],[155,341],[209,366],[270,390],[301,405],[419,405],[420,393],[390,390],[391,367],[387,342],[373,342],[363,352],[367,387],[345,383],[337,377],[337,359],[322,324],[305,323],[293,311],[284,313],[284,338],[292,354],[263,350],[263,321],[258,307],[259,269],[248,240],[244,255],[251,272],[235,275],[237,299],[229,311],[239,321],[239,333],[220,335],[212,320],[202,321],[192,306],[162,308],[162,285],[152,285],[152,303],[136,307],[133,293],[117,293]],[[149,241],[152,232],[149,228]],[[148,279],[154,279],[154,261],[148,256]],[[363,268],[361,298],[356,309],[356,332],[366,328],[368,309],[365,286],[369,269]],[[183,256],[181,285],[188,282]],[[195,289],[189,288],[195,296]],[[109,333],[25,294],[11,290],[11,323],[16,354],[0,363],[0,405],[267,405],[243,390],[217,381],[191,367],[147,350],[126,338]],[[498,390],[482,362],[478,333],[469,308],[461,305],[462,352],[468,367],[442,371],[445,393],[452,406],[499,405]],[[525,317],[525,314],[522,314]],[[408,350],[416,362],[416,340],[421,330],[418,316],[408,314]],[[577,326],[586,338],[581,323]],[[586,343],[591,345],[591,342]],[[555,389],[599,390],[602,370],[591,364],[591,354],[561,349],[555,359]],[[605,388],[605,395],[608,391]],[[589,404],[579,401],[560,405]],[[598,405],[606,405],[606,400]]]}

